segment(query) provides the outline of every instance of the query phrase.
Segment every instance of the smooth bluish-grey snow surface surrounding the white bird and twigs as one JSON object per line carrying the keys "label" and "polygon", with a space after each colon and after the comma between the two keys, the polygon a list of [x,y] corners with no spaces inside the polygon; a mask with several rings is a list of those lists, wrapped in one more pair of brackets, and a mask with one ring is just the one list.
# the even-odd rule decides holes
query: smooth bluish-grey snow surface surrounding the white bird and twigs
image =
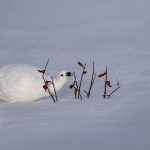
{"label": "smooth bluish-grey snow surface surrounding the white bird and twigs", "polygon": [[89,100],[74,100],[68,84],[58,103],[0,103],[2,150],[150,149],[149,0],[1,0],[0,21],[0,67],[43,67],[49,57],[56,75],[80,60],[87,88],[95,60],[121,84],[110,100],[96,79]]}

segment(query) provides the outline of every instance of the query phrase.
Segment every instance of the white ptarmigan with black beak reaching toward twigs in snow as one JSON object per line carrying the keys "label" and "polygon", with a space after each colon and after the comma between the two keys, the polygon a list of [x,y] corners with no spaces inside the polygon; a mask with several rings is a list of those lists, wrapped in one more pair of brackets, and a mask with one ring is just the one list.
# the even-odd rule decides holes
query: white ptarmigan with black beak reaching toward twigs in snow
{"label": "white ptarmigan with black beak reaching toward twigs in snow", "polygon": [[[8,102],[30,102],[49,96],[45,92],[42,74],[39,68],[32,65],[14,64],[0,69],[0,99]],[[59,91],[71,76],[71,72],[63,71],[54,79],[56,91]],[[46,75],[50,80],[50,76]],[[49,89],[54,94],[52,84]]]}

